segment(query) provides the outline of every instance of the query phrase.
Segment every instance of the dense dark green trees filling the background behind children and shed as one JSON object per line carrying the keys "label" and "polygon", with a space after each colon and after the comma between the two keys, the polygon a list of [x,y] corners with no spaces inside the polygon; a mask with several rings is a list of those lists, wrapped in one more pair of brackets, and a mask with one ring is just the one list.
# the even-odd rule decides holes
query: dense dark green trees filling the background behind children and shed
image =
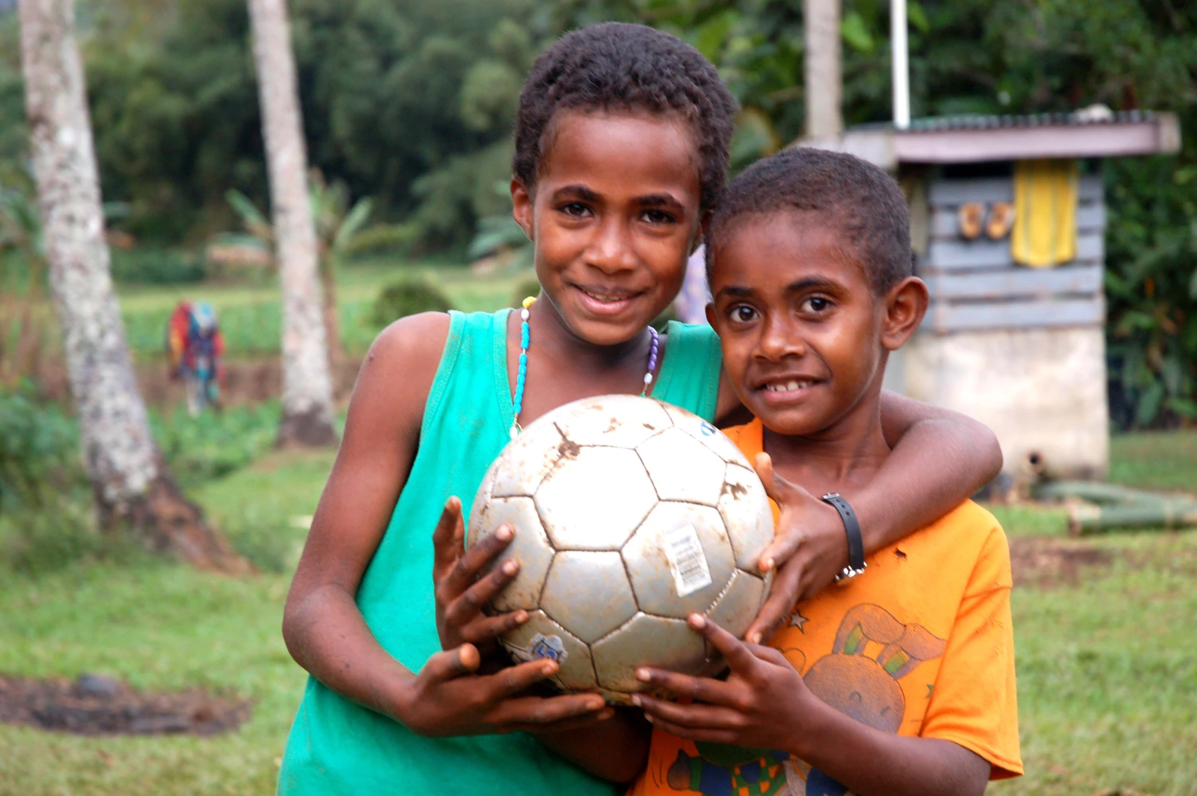
{"label": "dense dark green trees filling the background behind children and shed", "polygon": [[[1123,426],[1195,419],[1197,4],[909,7],[916,116],[1090,103],[1180,116],[1180,156],[1105,165],[1111,405]],[[79,8],[105,196],[129,208],[117,224],[178,244],[237,226],[229,189],[265,206],[243,0],[79,0]],[[405,221],[388,239],[463,247],[488,219],[484,248],[510,245],[510,225],[497,220],[509,208],[510,124],[522,75],[553,36],[626,19],[692,42],[743,107],[739,168],[802,133],[801,8],[795,0],[294,0],[311,162],[354,199],[373,198],[379,220]],[[886,121],[887,0],[844,0],[841,34],[845,121]],[[0,14],[0,184],[22,170],[22,116],[16,16]],[[193,274],[182,262],[160,261],[154,279]],[[144,271],[119,265],[124,275]]]}

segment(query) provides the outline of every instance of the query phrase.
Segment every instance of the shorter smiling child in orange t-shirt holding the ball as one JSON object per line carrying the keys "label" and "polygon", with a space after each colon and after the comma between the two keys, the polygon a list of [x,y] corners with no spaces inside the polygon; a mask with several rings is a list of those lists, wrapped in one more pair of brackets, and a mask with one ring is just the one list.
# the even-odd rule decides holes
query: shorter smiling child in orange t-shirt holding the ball
{"label": "shorter smiling child in orange t-shirt holding the ball", "polygon": [[[889,454],[886,359],[928,305],[909,230],[889,176],[810,148],[753,165],[711,219],[707,317],[757,417],[728,433],[783,505],[801,490],[850,502]],[[656,727],[632,796],[982,794],[1022,773],[1009,549],[994,516],[966,502],[868,559],[849,548],[838,588],[800,602],[768,646],[691,618],[730,664],[725,680],[638,672],[683,701],[633,698]]]}

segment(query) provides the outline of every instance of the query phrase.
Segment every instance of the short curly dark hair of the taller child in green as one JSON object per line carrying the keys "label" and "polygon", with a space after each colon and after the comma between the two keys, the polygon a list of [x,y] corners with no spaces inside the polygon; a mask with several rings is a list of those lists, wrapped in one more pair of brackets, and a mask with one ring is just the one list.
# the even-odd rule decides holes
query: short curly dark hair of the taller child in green
{"label": "short curly dark hair of the taller child in green", "polygon": [[603,23],[566,34],[536,59],[519,93],[511,160],[529,188],[536,184],[545,133],[566,109],[680,115],[698,145],[700,207],[715,206],[727,182],[736,101],[689,44],[644,25]]}

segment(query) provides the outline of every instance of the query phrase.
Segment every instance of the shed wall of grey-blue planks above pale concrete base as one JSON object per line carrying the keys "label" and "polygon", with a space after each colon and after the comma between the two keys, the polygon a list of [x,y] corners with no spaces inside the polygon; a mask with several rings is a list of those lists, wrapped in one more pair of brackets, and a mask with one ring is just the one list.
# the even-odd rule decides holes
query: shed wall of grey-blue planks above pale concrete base
{"label": "shed wall of grey-blue planks above pale concrete base", "polygon": [[[977,418],[1005,470],[1032,454],[1059,475],[1102,478],[1108,458],[1102,239],[1098,177],[1082,177],[1077,257],[1026,268],[1009,238],[968,242],[964,202],[1013,202],[1013,178],[907,182],[917,269],[930,288],[923,328],[886,369],[886,387]],[[922,205],[922,207],[919,207]]]}

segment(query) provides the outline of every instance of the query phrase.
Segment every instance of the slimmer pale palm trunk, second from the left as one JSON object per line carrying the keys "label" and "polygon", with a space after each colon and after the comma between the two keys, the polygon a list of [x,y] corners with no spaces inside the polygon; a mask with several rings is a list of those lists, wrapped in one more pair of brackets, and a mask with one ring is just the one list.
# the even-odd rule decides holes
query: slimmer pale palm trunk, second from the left
{"label": "slimmer pale palm trunk, second from the left", "polygon": [[282,421],[279,445],[336,444],[333,381],[321,311],[308,153],[286,0],[249,0],[274,241],[282,282]]}

